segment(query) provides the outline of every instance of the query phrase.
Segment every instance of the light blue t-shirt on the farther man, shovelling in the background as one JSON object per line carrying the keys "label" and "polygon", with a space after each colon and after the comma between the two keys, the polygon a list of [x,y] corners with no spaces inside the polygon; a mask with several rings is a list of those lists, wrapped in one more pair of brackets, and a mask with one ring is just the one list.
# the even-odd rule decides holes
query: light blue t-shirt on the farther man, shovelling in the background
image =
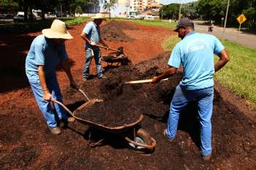
{"label": "light blue t-shirt on the farther man, shovelling in the background", "polygon": [[[93,21],[86,24],[86,26],[83,28],[83,33],[87,35],[91,42],[95,42],[97,45],[99,44],[100,29],[99,26],[97,26]],[[85,47],[91,48],[91,45],[86,42]],[[99,49],[99,47],[94,47],[94,49],[95,48]]]}

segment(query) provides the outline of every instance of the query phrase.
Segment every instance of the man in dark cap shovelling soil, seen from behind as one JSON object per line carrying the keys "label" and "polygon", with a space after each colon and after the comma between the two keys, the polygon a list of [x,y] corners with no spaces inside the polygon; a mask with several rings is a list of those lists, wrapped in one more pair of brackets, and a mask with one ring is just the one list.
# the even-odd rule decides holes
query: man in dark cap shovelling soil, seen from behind
{"label": "man in dark cap shovelling soil, seen from behind", "polygon": [[[222,69],[229,56],[215,36],[194,31],[194,23],[188,18],[179,20],[175,30],[181,42],[173,48],[168,65],[170,66],[153,83],[170,77],[182,64],[183,79],[177,85],[170,104],[170,113],[164,135],[173,140],[176,136],[179,115],[189,103],[196,100],[200,120],[200,150],[203,159],[211,158],[211,114],[214,98],[214,72]],[[214,64],[214,54],[219,61]]]}

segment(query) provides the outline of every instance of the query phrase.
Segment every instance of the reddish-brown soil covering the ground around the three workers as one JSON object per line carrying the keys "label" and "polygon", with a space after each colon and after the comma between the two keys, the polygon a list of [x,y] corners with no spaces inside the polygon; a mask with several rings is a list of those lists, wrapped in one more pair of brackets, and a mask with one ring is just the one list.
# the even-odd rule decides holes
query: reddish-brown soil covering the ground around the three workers
{"label": "reddish-brown soil covering the ground around the three workers", "polygon": [[[144,115],[141,127],[156,139],[157,147],[151,154],[138,154],[129,150],[120,136],[78,122],[61,128],[59,136],[50,134],[23,74],[26,53],[31,41],[40,33],[1,35],[1,58],[5,61],[4,64],[0,63],[3,80],[0,84],[1,169],[255,169],[255,112],[244,98],[234,95],[219,82],[214,85],[214,112],[211,121],[213,152],[211,161],[208,162],[200,157],[200,128],[194,101],[181,113],[173,142],[165,139],[162,134],[178,79],[154,85],[132,85],[127,90],[122,86],[118,87],[125,81],[148,79],[167,69],[166,62],[170,54],[164,53],[160,42],[167,38],[169,30],[148,26],[124,30],[125,34],[135,40],[107,43],[110,47],[123,46],[134,65],[125,71],[126,66],[113,69],[102,63],[108,79],[93,77],[83,82],[84,50],[79,36],[83,27],[84,25],[72,27],[69,32],[74,39],[67,41],[67,53],[73,61],[72,74],[75,81],[89,98],[112,101],[124,93],[142,98],[140,103],[135,103],[136,108]],[[155,34],[152,35],[152,32]],[[108,52],[102,50],[102,53]],[[95,75],[94,68],[92,63],[91,74]],[[135,77],[129,77],[129,73],[135,71]],[[127,76],[118,79],[123,74]],[[81,93],[69,88],[64,72],[58,72],[58,79],[64,104],[69,109],[74,111],[86,102]],[[112,79],[116,79],[116,82]],[[112,87],[108,81],[113,82]],[[118,93],[118,88],[123,92]],[[132,100],[130,98],[131,102]],[[98,147],[89,147],[89,142],[100,139],[105,140]]]}

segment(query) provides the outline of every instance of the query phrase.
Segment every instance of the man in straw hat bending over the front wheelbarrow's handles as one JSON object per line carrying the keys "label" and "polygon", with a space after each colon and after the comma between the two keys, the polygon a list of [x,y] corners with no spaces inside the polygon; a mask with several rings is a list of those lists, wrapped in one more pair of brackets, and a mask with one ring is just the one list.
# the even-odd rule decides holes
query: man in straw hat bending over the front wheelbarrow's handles
{"label": "man in straw hat bending over the front wheelbarrow's handles", "polygon": [[[78,88],[70,72],[67,52],[64,42],[72,39],[66,25],[61,20],[54,20],[50,28],[43,29],[42,35],[37,36],[31,44],[26,57],[26,76],[36,98],[39,109],[45,117],[48,128],[52,134],[61,134],[57,125],[50,99],[62,101],[61,90],[56,78],[56,65],[61,66],[69,78],[70,85]],[[68,117],[59,104],[54,104],[59,120],[65,125],[74,122],[73,117]]]}

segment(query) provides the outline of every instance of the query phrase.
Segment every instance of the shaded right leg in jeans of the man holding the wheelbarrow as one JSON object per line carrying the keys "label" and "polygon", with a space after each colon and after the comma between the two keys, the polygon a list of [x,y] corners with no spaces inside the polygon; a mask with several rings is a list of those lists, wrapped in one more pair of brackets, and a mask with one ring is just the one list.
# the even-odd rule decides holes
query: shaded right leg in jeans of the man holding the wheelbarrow
{"label": "shaded right leg in jeans of the man holding the wheelbarrow", "polygon": [[[51,96],[57,101],[62,102],[61,90],[59,88],[59,83],[56,78],[56,75],[46,80],[46,83],[51,93]],[[59,117],[59,120],[67,120],[67,113],[64,111],[64,109],[59,104],[56,104],[56,103],[54,103],[54,107],[56,109],[56,113]]]}

